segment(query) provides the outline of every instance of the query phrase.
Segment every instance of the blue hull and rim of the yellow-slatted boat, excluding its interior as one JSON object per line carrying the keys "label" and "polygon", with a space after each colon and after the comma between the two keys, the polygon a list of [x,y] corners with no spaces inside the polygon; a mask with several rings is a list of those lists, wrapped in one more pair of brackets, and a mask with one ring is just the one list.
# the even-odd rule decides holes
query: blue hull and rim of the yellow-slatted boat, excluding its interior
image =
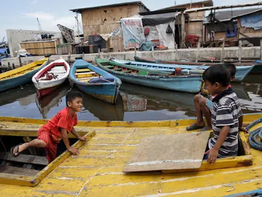
{"label": "blue hull and rim of the yellow-slatted boat, excluding its interior", "polygon": [[[114,82],[110,83],[83,83],[79,81],[75,77],[75,72],[77,69],[81,68],[88,68],[94,73],[97,73],[101,75],[102,77],[110,77],[114,78]],[[107,73],[105,70],[98,68],[96,66],[93,66],[92,64],[85,62],[83,60],[76,60],[73,64],[72,68],[70,69],[70,75],[69,79],[71,82],[77,86],[80,90],[85,92],[86,94],[89,94],[91,96],[94,96],[97,99],[100,99],[102,101],[105,101],[107,103],[116,103],[117,96],[119,94],[120,86],[121,86],[121,80],[117,77],[114,77],[114,75],[111,75]]]}

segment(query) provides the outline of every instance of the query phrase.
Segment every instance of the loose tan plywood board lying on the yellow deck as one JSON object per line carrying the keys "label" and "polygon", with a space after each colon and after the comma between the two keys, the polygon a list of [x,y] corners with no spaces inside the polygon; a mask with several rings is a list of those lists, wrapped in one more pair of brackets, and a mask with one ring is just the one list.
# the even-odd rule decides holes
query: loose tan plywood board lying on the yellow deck
{"label": "loose tan plywood board lying on the yellow deck", "polygon": [[209,136],[204,131],[143,138],[123,172],[200,168]]}

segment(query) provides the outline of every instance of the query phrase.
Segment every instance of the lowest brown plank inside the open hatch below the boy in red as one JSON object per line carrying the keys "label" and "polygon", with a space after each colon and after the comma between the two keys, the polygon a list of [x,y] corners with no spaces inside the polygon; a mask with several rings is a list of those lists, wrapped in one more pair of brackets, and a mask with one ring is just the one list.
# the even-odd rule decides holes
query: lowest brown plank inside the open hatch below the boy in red
{"label": "lowest brown plank inside the open hatch below the boy in red", "polygon": [[27,168],[17,168],[14,166],[0,165],[0,173],[35,176],[36,174],[38,174],[38,172],[40,172],[40,170],[31,170]]}

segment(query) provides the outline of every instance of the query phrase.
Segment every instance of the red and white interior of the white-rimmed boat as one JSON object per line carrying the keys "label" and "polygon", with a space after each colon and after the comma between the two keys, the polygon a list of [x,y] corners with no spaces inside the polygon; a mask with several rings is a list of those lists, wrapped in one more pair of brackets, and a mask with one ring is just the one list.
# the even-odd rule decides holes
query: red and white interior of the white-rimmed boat
{"label": "red and white interior of the white-rimmed boat", "polygon": [[66,74],[67,67],[65,63],[54,63],[51,66],[42,70],[38,76],[36,76],[36,80],[44,80],[50,81],[52,79],[62,79]]}

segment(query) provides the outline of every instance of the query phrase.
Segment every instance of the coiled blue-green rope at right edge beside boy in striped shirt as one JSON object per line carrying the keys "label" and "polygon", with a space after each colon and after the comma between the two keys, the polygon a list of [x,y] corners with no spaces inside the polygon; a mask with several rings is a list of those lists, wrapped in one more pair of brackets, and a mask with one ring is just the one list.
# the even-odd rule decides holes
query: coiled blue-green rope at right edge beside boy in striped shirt
{"label": "coiled blue-green rope at right edge beside boy in striped shirt", "polygon": [[[260,122],[262,122],[262,118],[259,118],[258,120],[255,120],[254,122],[249,124],[248,127],[246,127],[246,130],[248,131],[251,127],[259,124]],[[252,148],[262,151],[262,127],[259,127],[254,131],[250,131],[248,142]]]}

